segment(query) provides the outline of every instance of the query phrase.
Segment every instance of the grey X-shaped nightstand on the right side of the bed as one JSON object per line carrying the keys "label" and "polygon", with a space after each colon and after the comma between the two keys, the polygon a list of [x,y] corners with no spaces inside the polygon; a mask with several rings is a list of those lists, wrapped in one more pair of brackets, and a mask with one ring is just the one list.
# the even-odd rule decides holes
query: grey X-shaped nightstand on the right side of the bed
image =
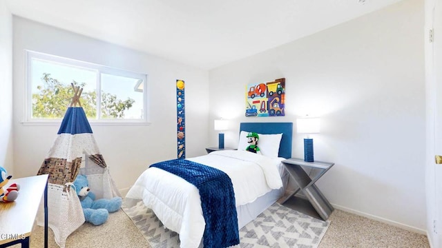
{"label": "grey X-shaped nightstand on the right side of the bed", "polygon": [[[334,163],[305,162],[299,158],[289,158],[282,161],[282,163],[284,163],[287,172],[289,172],[291,179],[294,180],[296,185],[292,185],[295,186],[294,191],[286,193],[285,196],[278,200],[278,203],[283,204],[292,196],[302,193],[307,197],[307,200],[309,200],[309,203],[314,207],[320,218],[327,220],[334,208],[315,183]],[[311,177],[305,172],[305,169],[311,169],[311,172],[316,172],[316,174]]]}

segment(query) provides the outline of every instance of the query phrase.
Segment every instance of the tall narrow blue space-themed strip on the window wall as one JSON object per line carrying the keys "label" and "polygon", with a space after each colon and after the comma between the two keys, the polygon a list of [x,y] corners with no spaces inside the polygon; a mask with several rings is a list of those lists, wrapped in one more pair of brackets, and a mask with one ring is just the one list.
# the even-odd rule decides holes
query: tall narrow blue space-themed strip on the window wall
{"label": "tall narrow blue space-themed strip on the window wall", "polygon": [[184,81],[177,80],[177,158],[186,158]]}

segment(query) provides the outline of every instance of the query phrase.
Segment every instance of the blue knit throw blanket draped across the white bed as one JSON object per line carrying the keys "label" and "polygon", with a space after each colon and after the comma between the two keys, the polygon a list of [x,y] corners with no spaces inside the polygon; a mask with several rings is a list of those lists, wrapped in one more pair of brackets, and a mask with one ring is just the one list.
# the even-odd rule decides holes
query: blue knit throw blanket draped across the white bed
{"label": "blue knit throw blanket draped across the white bed", "polygon": [[206,222],[204,248],[229,247],[240,243],[235,194],[227,174],[185,159],[163,161],[151,167],[180,176],[200,191],[202,214]]}

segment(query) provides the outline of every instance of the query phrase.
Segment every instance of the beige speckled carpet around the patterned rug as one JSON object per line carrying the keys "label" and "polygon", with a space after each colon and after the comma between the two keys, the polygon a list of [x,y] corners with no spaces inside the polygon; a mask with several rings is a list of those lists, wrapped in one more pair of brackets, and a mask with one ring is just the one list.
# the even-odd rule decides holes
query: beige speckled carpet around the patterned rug
{"label": "beige speckled carpet around the patterned rug", "polygon": [[[66,248],[149,248],[148,242],[124,211],[109,216],[102,226],[82,225],[66,240]],[[385,223],[335,210],[318,248],[429,248],[427,237]],[[49,229],[49,247],[57,248]],[[32,231],[32,248],[44,247],[44,228]],[[19,248],[20,245],[12,246]]]}

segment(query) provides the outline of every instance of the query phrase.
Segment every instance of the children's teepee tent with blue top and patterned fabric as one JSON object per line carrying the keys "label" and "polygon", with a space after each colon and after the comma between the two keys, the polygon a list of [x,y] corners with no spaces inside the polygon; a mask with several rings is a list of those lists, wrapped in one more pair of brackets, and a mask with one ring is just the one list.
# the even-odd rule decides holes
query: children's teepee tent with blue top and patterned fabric
{"label": "children's teepee tent with blue top and patterned fabric", "polygon": [[[75,189],[70,187],[78,174],[87,176],[90,190],[97,198],[121,196],[99,152],[83,107],[79,103],[82,89],[79,90],[79,87],[74,85],[72,87],[75,92],[73,101],[64,115],[57,138],[38,172],[38,175],[49,174],[49,227],[54,232],[55,242],[61,248],[65,247],[68,236],[84,223],[79,198]],[[85,166],[81,167],[84,156]]]}

